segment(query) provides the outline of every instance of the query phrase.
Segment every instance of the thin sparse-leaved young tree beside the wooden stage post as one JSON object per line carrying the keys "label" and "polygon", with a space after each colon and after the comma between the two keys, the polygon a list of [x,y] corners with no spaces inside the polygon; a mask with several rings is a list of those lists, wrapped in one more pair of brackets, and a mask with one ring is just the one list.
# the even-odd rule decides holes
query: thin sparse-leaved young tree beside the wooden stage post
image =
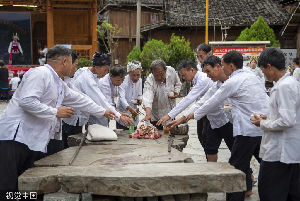
{"label": "thin sparse-leaved young tree beside the wooden stage post", "polygon": [[113,26],[104,20],[101,25],[97,25],[98,36],[101,42],[98,41],[100,45],[104,45],[105,49],[109,53],[113,53],[118,48],[118,40],[114,41],[114,36],[116,34],[122,33],[123,29],[119,28],[118,25]]}

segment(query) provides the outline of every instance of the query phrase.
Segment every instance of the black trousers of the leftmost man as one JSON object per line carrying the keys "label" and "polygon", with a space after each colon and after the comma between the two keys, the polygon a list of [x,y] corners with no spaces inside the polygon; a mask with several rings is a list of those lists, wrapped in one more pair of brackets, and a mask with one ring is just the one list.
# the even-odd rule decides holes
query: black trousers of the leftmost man
{"label": "black trousers of the leftmost man", "polygon": [[0,191],[18,190],[18,177],[33,168],[34,152],[26,144],[7,140],[0,145]]}

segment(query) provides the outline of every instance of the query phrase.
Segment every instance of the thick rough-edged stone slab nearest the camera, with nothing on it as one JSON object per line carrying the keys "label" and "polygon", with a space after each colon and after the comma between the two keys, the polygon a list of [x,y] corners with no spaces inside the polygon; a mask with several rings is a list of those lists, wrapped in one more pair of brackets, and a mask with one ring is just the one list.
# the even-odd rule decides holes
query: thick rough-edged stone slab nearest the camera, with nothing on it
{"label": "thick rough-edged stone slab nearest the camera, with nothing on it", "polygon": [[146,197],[246,190],[245,174],[229,163],[74,165],[26,170],[19,190]]}

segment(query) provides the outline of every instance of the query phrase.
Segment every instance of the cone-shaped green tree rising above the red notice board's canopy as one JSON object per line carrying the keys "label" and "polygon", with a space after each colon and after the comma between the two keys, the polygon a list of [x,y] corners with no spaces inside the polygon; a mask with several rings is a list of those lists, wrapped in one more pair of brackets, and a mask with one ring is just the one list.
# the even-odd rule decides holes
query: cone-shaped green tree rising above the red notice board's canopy
{"label": "cone-shaped green tree rising above the red notice board's canopy", "polygon": [[251,25],[250,29],[248,27],[244,29],[235,41],[270,41],[271,44],[268,44],[268,47],[280,47],[273,29],[268,26],[262,16],[258,17],[258,20]]}

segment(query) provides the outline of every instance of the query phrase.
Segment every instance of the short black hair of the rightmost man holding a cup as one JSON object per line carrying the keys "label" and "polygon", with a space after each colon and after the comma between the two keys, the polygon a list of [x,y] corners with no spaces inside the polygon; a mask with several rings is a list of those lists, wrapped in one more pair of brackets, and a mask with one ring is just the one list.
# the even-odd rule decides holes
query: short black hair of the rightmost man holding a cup
{"label": "short black hair of the rightmost man holding a cup", "polygon": [[267,48],[258,57],[258,66],[267,67],[267,64],[274,66],[278,70],[285,70],[285,56],[283,51],[277,48]]}

